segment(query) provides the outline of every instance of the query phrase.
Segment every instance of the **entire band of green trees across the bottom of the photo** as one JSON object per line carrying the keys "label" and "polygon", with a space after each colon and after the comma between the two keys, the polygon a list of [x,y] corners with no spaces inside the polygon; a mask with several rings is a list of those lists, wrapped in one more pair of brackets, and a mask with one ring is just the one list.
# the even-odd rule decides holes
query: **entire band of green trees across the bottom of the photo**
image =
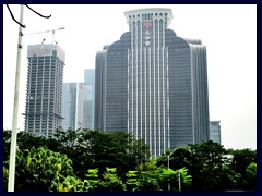
{"label": "entire band of green trees across the bottom of the photo", "polygon": [[[11,131],[4,131],[4,189],[10,138]],[[124,132],[57,130],[53,138],[17,134],[15,191],[178,192],[179,180],[183,192],[255,191],[257,150],[226,150],[209,140],[167,149],[155,160],[144,140]]]}

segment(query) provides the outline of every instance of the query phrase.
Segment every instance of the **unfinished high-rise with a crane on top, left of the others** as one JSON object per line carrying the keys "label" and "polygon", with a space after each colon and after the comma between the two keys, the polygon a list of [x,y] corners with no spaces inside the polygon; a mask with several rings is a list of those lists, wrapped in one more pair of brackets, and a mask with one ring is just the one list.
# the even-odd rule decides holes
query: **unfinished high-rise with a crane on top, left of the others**
{"label": "unfinished high-rise with a crane on top, left of the others", "polygon": [[58,45],[27,47],[25,131],[52,136],[61,126],[64,51]]}

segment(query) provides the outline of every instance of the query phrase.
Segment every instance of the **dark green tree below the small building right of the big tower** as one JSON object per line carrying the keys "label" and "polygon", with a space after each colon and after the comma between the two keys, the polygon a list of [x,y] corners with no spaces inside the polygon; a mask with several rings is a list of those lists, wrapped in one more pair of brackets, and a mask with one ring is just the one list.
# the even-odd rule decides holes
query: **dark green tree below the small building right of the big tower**
{"label": "dark green tree below the small building right of the big tower", "polygon": [[226,162],[226,149],[213,140],[190,144],[192,191],[224,191],[223,166]]}

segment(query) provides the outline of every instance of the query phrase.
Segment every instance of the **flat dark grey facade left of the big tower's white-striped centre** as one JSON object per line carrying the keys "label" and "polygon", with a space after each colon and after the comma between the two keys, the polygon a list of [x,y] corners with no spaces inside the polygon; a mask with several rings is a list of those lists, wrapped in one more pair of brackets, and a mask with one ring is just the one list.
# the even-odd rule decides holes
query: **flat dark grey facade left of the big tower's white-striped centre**
{"label": "flat dark grey facade left of the big tower's white-striped centre", "polygon": [[127,131],[128,125],[128,48],[129,34],[107,50],[105,68],[105,127],[106,132]]}

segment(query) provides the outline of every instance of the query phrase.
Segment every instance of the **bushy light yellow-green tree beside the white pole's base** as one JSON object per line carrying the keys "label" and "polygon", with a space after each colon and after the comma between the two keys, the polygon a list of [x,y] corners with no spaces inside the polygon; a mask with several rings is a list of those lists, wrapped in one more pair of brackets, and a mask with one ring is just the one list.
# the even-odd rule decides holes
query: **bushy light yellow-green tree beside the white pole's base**
{"label": "bushy light yellow-green tree beside the white pole's base", "polygon": [[[9,161],[4,162],[9,167]],[[52,181],[59,177],[61,182],[73,174],[72,161],[59,152],[40,148],[17,150],[15,171],[15,191],[47,192]]]}

